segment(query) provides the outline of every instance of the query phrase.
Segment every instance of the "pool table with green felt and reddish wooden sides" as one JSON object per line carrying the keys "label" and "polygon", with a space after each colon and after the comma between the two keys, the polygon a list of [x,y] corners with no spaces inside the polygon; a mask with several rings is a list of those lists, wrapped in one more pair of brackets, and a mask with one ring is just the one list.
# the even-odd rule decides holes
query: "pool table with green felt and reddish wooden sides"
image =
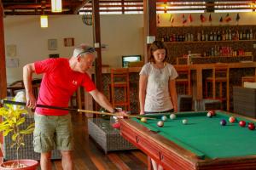
{"label": "pool table with green felt and reddish wooden sides", "polygon": [[[162,115],[168,119],[164,127],[158,127]],[[256,169],[256,130],[238,123],[256,124],[255,119],[224,111],[216,111],[211,118],[207,111],[178,112],[174,120],[169,115],[152,115],[156,119],[147,122],[121,119],[120,133],[165,169]],[[230,123],[230,116],[236,116],[236,122]],[[183,124],[183,119],[188,123]],[[226,126],[220,125],[222,119]]]}

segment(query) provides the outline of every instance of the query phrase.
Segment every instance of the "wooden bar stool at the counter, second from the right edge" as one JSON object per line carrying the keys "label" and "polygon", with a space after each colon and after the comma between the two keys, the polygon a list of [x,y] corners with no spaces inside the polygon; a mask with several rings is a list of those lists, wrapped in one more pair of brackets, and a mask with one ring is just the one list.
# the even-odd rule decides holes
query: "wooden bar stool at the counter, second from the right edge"
{"label": "wooden bar stool at the counter, second from the right edge", "polygon": [[[226,101],[226,110],[230,110],[230,69],[227,65],[216,64],[212,69],[212,77],[206,79],[206,97],[208,98],[208,83],[212,83],[212,98]],[[223,95],[223,84],[226,83],[226,95]],[[216,85],[219,84],[218,97],[216,97]]]}

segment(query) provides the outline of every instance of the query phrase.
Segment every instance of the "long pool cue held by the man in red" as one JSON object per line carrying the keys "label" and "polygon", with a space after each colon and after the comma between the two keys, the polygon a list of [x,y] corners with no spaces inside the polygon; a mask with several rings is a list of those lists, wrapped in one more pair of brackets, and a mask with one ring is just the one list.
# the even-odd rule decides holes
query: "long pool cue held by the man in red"
{"label": "long pool cue held by the man in red", "polygon": [[[11,100],[1,100],[1,103],[3,104],[10,104],[10,105],[25,105],[25,102],[19,102],[19,101],[11,101]],[[81,109],[75,109],[75,108],[68,108],[68,107],[57,107],[52,105],[37,105],[37,107],[43,107],[48,109],[56,109],[56,110],[62,110],[62,111],[77,111],[77,112],[84,112],[84,113],[93,113],[97,115],[109,115],[109,116],[127,116],[127,117],[135,117],[135,118],[142,118],[143,116],[131,116],[131,115],[119,115],[116,113],[107,113],[102,111],[87,111],[87,110],[81,110]],[[153,117],[145,117],[147,119],[156,119]]]}

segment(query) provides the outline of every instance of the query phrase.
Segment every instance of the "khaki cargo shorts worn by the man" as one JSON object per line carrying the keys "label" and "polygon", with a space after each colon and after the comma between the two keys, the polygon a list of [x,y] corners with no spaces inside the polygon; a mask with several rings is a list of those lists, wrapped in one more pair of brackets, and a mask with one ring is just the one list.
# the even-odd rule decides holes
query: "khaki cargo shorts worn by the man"
{"label": "khaki cargo shorts worn by the man", "polygon": [[34,151],[73,150],[71,115],[44,116],[35,113]]}

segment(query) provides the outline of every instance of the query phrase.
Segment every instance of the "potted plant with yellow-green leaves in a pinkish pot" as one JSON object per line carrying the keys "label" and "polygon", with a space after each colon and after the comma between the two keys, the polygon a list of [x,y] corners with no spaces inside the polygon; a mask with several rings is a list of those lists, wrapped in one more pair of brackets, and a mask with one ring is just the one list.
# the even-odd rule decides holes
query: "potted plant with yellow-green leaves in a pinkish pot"
{"label": "potted plant with yellow-green leaves in a pinkish pot", "polygon": [[16,160],[4,161],[0,165],[1,170],[35,170],[38,167],[38,161],[20,160],[19,158],[19,149],[25,145],[25,135],[34,130],[34,123],[24,129],[20,127],[26,121],[26,114],[28,114],[27,111],[20,105],[6,104],[0,108],[0,116],[3,117],[3,121],[0,123],[0,132],[3,133],[3,136],[11,135],[12,144],[10,147],[15,147],[16,150]]}

